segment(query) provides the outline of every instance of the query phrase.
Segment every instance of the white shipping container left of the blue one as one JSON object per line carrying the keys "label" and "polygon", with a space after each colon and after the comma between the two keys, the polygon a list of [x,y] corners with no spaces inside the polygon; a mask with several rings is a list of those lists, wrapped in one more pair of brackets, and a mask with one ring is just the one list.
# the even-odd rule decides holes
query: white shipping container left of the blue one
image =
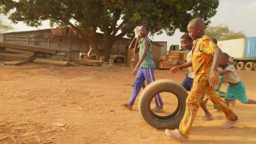
{"label": "white shipping container left of the blue one", "polygon": [[245,56],[245,39],[231,39],[218,41],[219,48],[234,58],[243,58]]}

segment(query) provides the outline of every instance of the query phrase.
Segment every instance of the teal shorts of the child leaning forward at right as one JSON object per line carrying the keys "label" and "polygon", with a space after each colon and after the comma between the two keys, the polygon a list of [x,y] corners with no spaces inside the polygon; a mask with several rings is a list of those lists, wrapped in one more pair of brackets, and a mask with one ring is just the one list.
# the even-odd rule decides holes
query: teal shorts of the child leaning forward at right
{"label": "teal shorts of the child leaning forward at right", "polygon": [[237,83],[234,86],[228,86],[225,99],[237,99],[241,101],[241,103],[248,103],[248,99],[245,93],[245,85],[242,81]]}

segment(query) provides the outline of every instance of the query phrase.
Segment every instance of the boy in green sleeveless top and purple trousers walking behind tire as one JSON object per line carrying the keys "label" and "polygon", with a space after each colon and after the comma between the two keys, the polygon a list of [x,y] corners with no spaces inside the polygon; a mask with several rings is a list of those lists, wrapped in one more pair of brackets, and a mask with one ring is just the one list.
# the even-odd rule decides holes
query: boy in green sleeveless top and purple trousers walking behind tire
{"label": "boy in green sleeveless top and purple trousers walking behind tire", "polygon": [[[151,55],[152,47],[150,43],[151,40],[148,37],[149,31],[150,27],[148,25],[142,25],[139,32],[140,35],[136,39],[134,52],[139,52],[139,61],[136,67],[133,69],[132,74],[137,74],[137,76],[133,82],[133,89],[129,102],[122,104],[122,106],[128,110],[132,110],[132,105],[135,103],[135,99],[141,90],[144,81],[146,80],[148,84],[155,81],[155,64]],[[163,103],[159,94],[155,96],[155,103],[156,107],[153,109],[153,111],[161,111],[163,109]]]}

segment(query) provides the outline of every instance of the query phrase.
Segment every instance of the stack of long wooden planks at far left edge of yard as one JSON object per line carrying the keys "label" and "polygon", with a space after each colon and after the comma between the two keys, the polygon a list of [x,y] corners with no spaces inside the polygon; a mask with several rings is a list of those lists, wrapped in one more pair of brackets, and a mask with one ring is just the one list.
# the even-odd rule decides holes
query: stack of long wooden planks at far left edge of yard
{"label": "stack of long wooden planks at far left edge of yard", "polygon": [[[21,65],[26,62],[53,64],[58,66],[67,66],[69,64],[69,62],[43,59],[45,53],[56,55],[58,52],[57,50],[10,43],[0,43],[0,49],[0,61],[7,61],[4,65]],[[34,60],[34,57],[37,57],[37,59]]]}

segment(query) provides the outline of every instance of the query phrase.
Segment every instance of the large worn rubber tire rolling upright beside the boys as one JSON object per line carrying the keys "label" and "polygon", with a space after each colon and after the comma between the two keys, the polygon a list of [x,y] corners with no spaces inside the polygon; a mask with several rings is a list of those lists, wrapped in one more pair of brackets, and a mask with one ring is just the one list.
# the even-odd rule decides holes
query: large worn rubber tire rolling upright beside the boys
{"label": "large worn rubber tire rolling upright beside the boys", "polygon": [[[178,99],[177,109],[168,116],[155,115],[150,109],[150,103],[156,94],[161,92],[170,92],[176,95]],[[144,121],[156,129],[175,129],[179,127],[184,113],[185,100],[188,92],[183,86],[173,80],[156,80],[150,83],[141,93],[139,97],[138,109]],[[165,101],[163,101],[165,103]]]}

